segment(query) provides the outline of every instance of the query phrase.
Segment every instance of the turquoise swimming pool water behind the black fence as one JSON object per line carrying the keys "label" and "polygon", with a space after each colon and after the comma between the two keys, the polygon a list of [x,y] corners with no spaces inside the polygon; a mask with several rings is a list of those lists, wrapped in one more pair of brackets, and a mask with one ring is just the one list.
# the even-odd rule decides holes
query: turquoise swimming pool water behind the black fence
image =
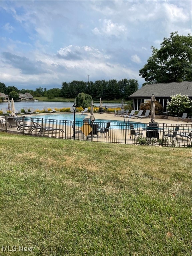
{"label": "turquoise swimming pool water behind the black fence", "polygon": [[[72,114],[40,115],[40,116],[35,115],[35,116],[33,116],[33,118],[73,121],[73,113]],[[76,125],[78,125],[78,122],[82,122],[84,118],[87,118],[87,115],[75,115],[75,121],[77,121]],[[124,129],[125,128],[125,122],[124,121],[104,120],[104,119],[102,119],[102,120],[101,119],[95,119],[95,121],[94,121],[94,123],[107,123],[107,122],[111,122],[111,124],[114,124],[116,129]],[[139,122],[130,121],[130,123],[134,124],[135,127],[137,127],[137,125],[139,127],[145,127],[146,126],[146,124],[139,123]]]}

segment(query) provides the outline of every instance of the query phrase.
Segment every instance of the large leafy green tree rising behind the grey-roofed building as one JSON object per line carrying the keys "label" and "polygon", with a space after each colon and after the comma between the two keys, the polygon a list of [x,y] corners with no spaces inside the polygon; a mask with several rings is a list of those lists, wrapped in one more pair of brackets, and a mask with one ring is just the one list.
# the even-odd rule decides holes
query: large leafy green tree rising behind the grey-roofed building
{"label": "large leafy green tree rising behind the grey-roofed building", "polygon": [[164,37],[161,47],[158,50],[151,47],[152,56],[147,64],[139,70],[139,75],[147,83],[171,83],[191,81],[191,49],[192,37],[179,36],[178,32],[170,34],[169,38]]}

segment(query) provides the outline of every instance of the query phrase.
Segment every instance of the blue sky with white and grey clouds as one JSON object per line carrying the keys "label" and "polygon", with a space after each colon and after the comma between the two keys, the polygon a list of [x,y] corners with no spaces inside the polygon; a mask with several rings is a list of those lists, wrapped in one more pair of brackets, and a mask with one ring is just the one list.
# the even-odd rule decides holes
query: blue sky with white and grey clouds
{"label": "blue sky with white and grey clouds", "polygon": [[0,1],[0,82],[18,89],[136,79],[164,38],[191,34],[191,1]]}

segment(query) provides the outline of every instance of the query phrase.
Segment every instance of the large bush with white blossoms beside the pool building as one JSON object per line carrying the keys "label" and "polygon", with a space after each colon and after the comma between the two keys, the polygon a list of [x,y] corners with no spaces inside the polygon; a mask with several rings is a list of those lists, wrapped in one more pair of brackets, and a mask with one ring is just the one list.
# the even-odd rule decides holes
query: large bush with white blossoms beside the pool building
{"label": "large bush with white blossoms beside the pool building", "polygon": [[187,113],[191,116],[192,101],[187,95],[176,94],[171,96],[171,101],[167,103],[167,111],[171,116],[180,116]]}

